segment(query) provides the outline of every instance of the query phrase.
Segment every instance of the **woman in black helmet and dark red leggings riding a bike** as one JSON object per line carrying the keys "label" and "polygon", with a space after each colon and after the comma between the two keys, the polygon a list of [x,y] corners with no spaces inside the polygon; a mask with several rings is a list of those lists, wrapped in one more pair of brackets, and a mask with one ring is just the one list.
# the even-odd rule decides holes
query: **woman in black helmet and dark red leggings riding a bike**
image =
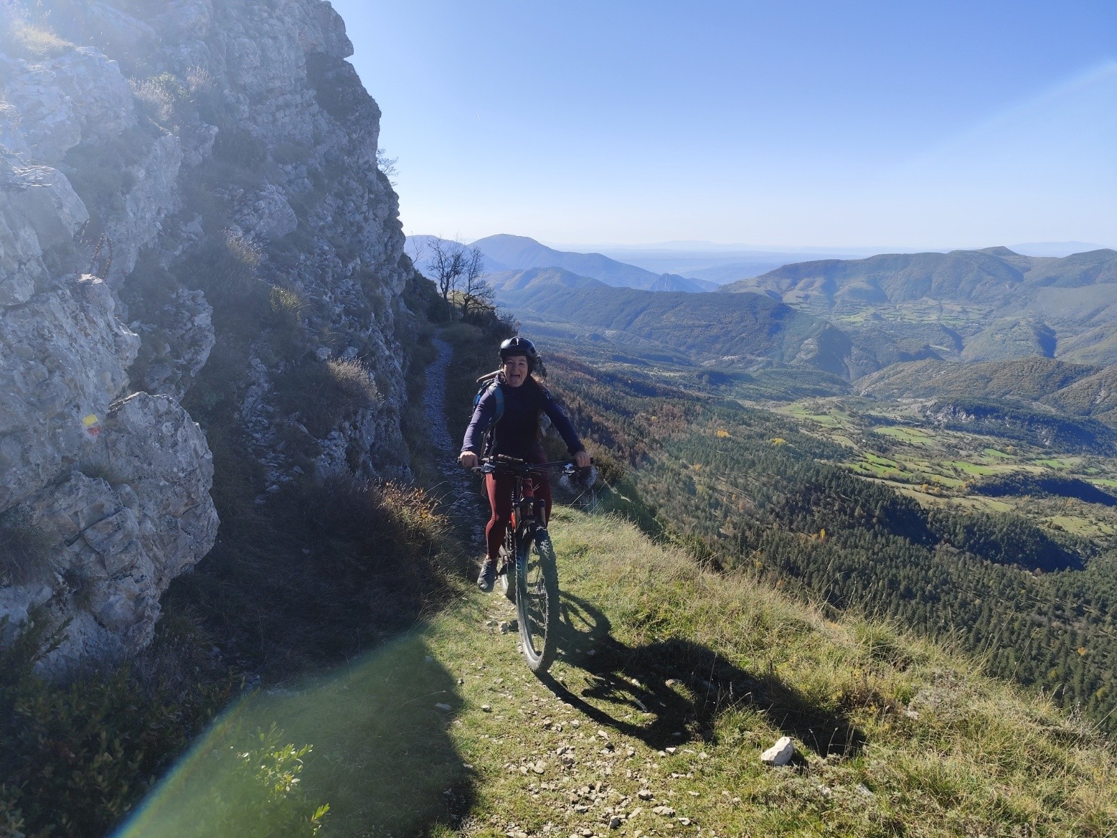
{"label": "woman in black helmet and dark red leggings riding a bike", "polygon": [[[527,463],[546,463],[540,429],[540,417],[546,413],[566,444],[574,464],[579,468],[590,465],[590,455],[582,447],[570,419],[555,403],[551,391],[532,375],[538,361],[535,345],[526,337],[509,337],[500,344],[500,371],[493,387],[485,391],[474,409],[458,463],[466,468],[474,468],[479,455],[495,457],[498,454]],[[491,432],[485,440],[487,431]],[[525,486],[525,494],[534,494],[536,498],[541,498],[546,507],[546,517],[550,518],[551,483],[546,473],[537,473],[527,483],[531,485]],[[496,560],[512,517],[514,485],[515,477],[512,475],[485,476],[493,515],[485,527],[486,556],[477,577],[477,587],[486,592],[493,590],[496,579]]]}

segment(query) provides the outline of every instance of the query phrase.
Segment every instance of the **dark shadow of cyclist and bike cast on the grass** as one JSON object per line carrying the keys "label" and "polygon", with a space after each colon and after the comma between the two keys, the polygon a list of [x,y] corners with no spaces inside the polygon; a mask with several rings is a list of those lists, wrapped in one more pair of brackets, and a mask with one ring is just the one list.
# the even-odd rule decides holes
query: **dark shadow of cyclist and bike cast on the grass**
{"label": "dark shadow of cyclist and bike cast on the grass", "polygon": [[774,673],[746,672],[684,638],[626,646],[612,636],[600,610],[566,592],[558,654],[566,665],[583,670],[590,683],[575,694],[552,675],[541,676],[557,698],[656,750],[710,741],[717,716],[739,707],[762,712],[820,756],[852,756],[866,742],[848,717],[812,704]]}

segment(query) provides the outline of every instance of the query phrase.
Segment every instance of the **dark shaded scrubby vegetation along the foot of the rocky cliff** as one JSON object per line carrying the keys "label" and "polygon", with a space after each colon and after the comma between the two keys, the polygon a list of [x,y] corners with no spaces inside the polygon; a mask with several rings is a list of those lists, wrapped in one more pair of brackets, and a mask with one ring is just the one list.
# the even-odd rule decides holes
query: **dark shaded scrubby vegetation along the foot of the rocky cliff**
{"label": "dark shaded scrubby vegetation along the foot of the rocky cliff", "polygon": [[[255,504],[239,487],[219,486],[218,546],[164,596],[156,642],[141,659],[63,684],[40,678],[32,666],[50,648],[47,620],[0,653],[0,825],[7,818],[9,829],[0,835],[105,834],[246,678],[271,685],[352,659],[454,591],[459,558],[421,492],[335,478]],[[328,800],[294,781],[318,743],[276,720],[221,729],[207,818],[175,835],[315,834]]]}

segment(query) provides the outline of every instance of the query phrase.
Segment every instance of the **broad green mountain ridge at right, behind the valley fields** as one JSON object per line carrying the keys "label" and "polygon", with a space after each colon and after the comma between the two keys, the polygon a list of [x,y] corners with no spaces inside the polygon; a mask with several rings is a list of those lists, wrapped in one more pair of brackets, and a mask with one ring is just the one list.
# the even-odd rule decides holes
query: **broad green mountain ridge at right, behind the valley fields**
{"label": "broad green mountain ridge at right, behind the valley fields", "polygon": [[1027,355],[1117,362],[1117,251],[1062,258],[1004,247],[784,265],[722,288],[832,318],[873,345],[924,342],[953,361]]}

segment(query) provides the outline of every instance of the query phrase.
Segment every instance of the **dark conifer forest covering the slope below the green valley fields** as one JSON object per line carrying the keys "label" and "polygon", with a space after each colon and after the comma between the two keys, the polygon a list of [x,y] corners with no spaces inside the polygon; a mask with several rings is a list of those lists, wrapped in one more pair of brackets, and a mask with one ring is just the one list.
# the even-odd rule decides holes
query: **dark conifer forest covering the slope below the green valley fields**
{"label": "dark conifer forest covering the slope below the green valley fields", "polygon": [[547,361],[575,426],[617,460],[612,503],[646,528],[725,572],[954,645],[1117,732],[1117,550],[1102,531],[934,503],[937,483],[924,503],[859,476],[848,447],[793,416],[632,366]]}

